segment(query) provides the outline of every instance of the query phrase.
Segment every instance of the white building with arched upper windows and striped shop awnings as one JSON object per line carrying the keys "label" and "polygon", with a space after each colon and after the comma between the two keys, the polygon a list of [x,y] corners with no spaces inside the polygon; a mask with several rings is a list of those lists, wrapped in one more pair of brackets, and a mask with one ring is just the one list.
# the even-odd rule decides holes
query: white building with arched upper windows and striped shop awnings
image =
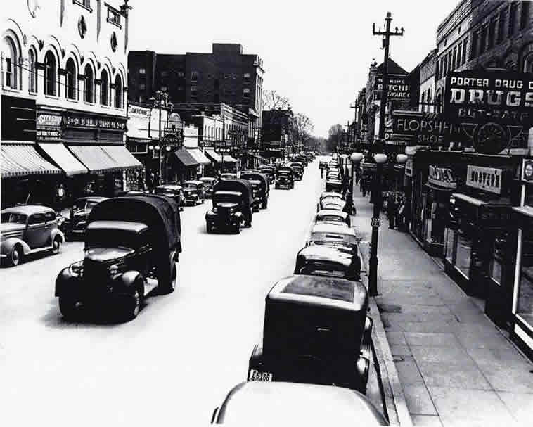
{"label": "white building with arched upper windows and striped shop awnings", "polygon": [[[1,47],[4,205],[113,195],[140,167],[124,147],[127,1],[15,1]],[[57,192],[56,192],[57,193]]]}

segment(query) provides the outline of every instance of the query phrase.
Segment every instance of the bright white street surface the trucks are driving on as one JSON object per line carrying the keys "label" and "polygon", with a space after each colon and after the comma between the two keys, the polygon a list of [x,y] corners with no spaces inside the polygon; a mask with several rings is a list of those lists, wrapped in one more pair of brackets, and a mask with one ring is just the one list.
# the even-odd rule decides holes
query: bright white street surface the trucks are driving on
{"label": "bright white street surface the trucks are driving on", "polygon": [[292,273],[321,191],[316,162],[295,190],[272,189],[268,210],[240,236],[206,234],[210,201],[186,208],[179,287],[150,298],[127,324],[61,319],[54,280],[82,259],[82,243],[1,269],[2,418],[11,426],[208,423],[245,380],[266,292]]}

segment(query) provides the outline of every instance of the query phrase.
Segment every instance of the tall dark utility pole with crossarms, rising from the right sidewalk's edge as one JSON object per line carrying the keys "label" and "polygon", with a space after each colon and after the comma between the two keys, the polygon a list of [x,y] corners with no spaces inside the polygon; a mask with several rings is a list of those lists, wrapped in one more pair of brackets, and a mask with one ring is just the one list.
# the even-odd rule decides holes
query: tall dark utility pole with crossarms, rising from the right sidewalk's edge
{"label": "tall dark utility pole with crossarms, rising from the right sidewalk's edge", "polygon": [[[387,91],[389,85],[389,42],[391,36],[403,36],[404,27],[401,30],[398,30],[398,27],[394,32],[390,31],[390,21],[392,21],[392,15],[390,12],[387,12],[385,18],[385,31],[381,30],[375,31],[375,23],[372,25],[372,33],[375,36],[383,37],[383,46],[382,49],[385,49],[385,57],[383,58],[383,86],[381,88],[381,100],[380,100],[380,127],[379,127],[379,144],[375,146],[374,150],[374,159],[377,163],[374,182],[372,188],[373,196],[373,217],[372,217],[372,241],[371,241],[371,253],[370,260],[368,265],[370,271],[368,272],[368,294],[370,296],[378,295],[378,232],[380,227],[380,212],[382,204],[382,194],[381,194],[381,175],[383,174],[383,155],[376,155],[380,153],[383,148],[383,141],[385,141],[385,107],[387,106]],[[375,78],[378,78],[379,75],[376,75]],[[380,161],[378,161],[378,158]]]}

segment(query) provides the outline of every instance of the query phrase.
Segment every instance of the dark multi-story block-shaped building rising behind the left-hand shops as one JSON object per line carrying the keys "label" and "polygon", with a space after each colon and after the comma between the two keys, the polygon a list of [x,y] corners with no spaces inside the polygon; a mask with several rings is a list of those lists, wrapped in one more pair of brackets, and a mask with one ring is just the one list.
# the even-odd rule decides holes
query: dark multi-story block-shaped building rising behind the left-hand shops
{"label": "dark multi-story block-shaped building rising behind the left-hand shops", "polygon": [[146,102],[154,91],[166,91],[173,103],[225,103],[248,116],[248,137],[261,127],[263,61],[243,53],[240,44],[212,45],[212,53],[129,53],[131,101]]}

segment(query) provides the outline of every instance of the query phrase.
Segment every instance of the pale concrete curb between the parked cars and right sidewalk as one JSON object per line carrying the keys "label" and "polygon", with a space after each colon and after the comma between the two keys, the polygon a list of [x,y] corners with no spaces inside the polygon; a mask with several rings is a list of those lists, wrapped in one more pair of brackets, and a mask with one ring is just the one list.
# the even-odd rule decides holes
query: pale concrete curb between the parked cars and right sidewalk
{"label": "pale concrete curb between the parked cars and right sidewalk", "polygon": [[[361,249],[363,246],[366,246],[367,250],[360,250],[360,254],[363,258],[363,264],[368,265],[368,243],[359,243]],[[368,276],[361,276],[361,280],[368,289]],[[385,327],[383,326],[383,321],[381,321],[381,314],[375,298],[368,298],[368,307],[370,308],[370,314],[374,321],[372,348],[374,357],[378,362],[378,374],[382,387],[385,416],[389,419],[391,426],[412,427],[413,420],[407,408],[402,383],[399,381],[398,371],[392,358],[389,341],[385,334]]]}

